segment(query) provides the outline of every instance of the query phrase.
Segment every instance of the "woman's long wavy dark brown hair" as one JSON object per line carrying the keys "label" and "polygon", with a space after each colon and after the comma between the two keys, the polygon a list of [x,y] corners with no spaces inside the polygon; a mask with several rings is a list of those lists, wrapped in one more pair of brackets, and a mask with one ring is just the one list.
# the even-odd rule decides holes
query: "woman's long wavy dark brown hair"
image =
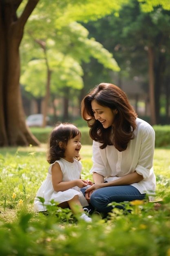
{"label": "woman's long wavy dark brown hair", "polygon": [[[114,127],[104,128],[95,119],[91,108],[93,100],[101,106],[117,110]],[[88,127],[90,127],[90,137],[102,143],[100,148],[114,145],[119,151],[126,150],[128,142],[134,138],[137,114],[130,105],[126,94],[119,87],[111,83],[96,85],[82,100],[81,111],[83,119],[88,122]]]}

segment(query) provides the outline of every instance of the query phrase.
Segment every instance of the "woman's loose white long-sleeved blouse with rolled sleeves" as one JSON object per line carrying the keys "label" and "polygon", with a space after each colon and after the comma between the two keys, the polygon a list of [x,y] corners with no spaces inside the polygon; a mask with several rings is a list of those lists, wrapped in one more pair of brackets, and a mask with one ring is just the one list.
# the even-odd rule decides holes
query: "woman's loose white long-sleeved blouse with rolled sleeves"
{"label": "woman's loose white long-sleeved blouse with rolled sleeves", "polygon": [[141,194],[147,193],[150,200],[155,195],[156,177],[153,171],[155,149],[155,131],[146,121],[137,118],[134,139],[130,140],[126,150],[119,152],[115,146],[99,148],[102,144],[93,141],[93,166],[90,173],[104,176],[105,181],[113,181],[129,173],[137,172],[144,177],[138,183],[131,184]]}

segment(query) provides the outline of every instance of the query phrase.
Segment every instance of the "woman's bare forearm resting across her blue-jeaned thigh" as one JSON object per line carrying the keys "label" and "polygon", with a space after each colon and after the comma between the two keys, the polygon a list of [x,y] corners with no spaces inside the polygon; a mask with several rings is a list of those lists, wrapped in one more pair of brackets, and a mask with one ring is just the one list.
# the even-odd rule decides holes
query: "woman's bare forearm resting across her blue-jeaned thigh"
{"label": "woman's bare forearm resting across her blue-jeaned thigh", "polygon": [[96,189],[101,189],[107,186],[124,186],[124,185],[130,185],[132,183],[137,183],[141,180],[143,180],[143,176],[139,175],[136,171],[134,173],[130,173],[128,175],[125,175],[124,177],[121,177],[117,180],[113,180],[106,183],[97,183],[91,186],[90,188],[86,189],[86,193],[89,193],[90,191],[94,191]]}

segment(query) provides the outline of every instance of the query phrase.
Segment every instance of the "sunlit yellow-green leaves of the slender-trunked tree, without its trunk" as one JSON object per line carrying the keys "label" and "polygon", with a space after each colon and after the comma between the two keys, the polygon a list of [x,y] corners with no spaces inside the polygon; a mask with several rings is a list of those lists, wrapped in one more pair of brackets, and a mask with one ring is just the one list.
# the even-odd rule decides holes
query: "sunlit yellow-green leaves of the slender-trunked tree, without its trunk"
{"label": "sunlit yellow-green leaves of the slender-trunked tree, without its trunk", "polygon": [[[34,31],[31,32],[31,36],[34,38]],[[45,38],[46,57],[51,70],[51,92],[60,94],[60,88],[63,87],[82,89],[81,63],[90,61],[91,56],[97,58],[99,63],[105,67],[119,71],[112,54],[94,38],[88,38],[88,30],[77,22],[62,27],[62,30],[53,29],[51,34],[43,33],[41,36]],[[27,67],[23,65],[25,71],[20,82],[25,86],[25,90],[31,92],[34,97],[44,97],[47,76],[44,53],[38,45],[35,46],[35,41],[31,41],[28,35],[23,42],[25,43],[22,45],[22,56],[27,54],[27,58],[30,60],[28,59]],[[23,63],[25,59],[22,58]]]}

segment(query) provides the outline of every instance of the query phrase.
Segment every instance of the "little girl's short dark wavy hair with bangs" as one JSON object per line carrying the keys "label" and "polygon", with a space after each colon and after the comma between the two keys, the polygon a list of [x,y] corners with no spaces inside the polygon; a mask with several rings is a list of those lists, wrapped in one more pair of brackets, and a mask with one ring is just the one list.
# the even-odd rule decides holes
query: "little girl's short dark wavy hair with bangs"
{"label": "little girl's short dark wavy hair with bangs", "polygon": [[[48,141],[48,150],[47,150],[47,162],[53,164],[56,160],[59,160],[62,157],[65,157],[65,148],[70,139],[73,139],[78,134],[81,135],[79,129],[73,124],[62,123],[57,125],[51,132]],[[65,147],[60,148],[59,142],[63,142]],[[80,160],[79,157],[75,157],[77,160]]]}

